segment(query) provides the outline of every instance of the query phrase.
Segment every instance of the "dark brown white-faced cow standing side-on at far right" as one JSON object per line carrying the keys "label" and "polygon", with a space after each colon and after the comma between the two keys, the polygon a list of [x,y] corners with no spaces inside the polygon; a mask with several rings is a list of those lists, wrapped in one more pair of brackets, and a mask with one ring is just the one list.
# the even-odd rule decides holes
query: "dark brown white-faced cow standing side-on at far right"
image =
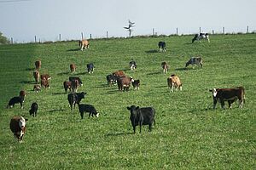
{"label": "dark brown white-faced cow standing side-on at far right", "polygon": [[238,107],[242,108],[245,103],[245,93],[243,87],[238,88],[213,88],[210,90],[213,97],[213,109],[216,108],[217,102],[219,101],[221,107],[224,109],[224,101],[228,101],[231,109],[231,104],[236,100],[239,100]]}

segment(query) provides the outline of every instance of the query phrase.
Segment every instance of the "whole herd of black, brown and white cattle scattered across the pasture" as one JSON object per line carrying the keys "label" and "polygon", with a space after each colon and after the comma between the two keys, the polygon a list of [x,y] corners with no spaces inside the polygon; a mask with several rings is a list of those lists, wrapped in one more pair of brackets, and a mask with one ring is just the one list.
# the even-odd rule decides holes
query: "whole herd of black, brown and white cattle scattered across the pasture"
{"label": "whole herd of black, brown and white cattle scattered across the pasture", "polygon": [[[201,40],[206,39],[209,41],[208,34],[196,34],[195,37],[192,39],[192,42],[195,42],[195,40]],[[83,50],[84,48],[89,48],[89,42],[87,40],[79,41],[80,49]],[[165,52],[166,51],[166,42],[159,42],[159,51]],[[41,88],[49,88],[49,80],[51,77],[49,74],[42,74],[40,75],[39,69],[41,68],[41,61],[37,60],[35,62],[36,70],[33,72],[33,77],[35,79],[35,82],[37,83],[34,85],[33,90],[37,93],[41,91]],[[130,69],[131,71],[134,71],[137,69],[137,63],[134,60],[131,60],[130,62]],[[202,58],[201,57],[193,57],[189,59],[188,62],[185,64],[185,68],[189,65],[198,65],[200,68],[202,68]],[[168,71],[168,65],[167,62],[164,61],[161,63],[161,67],[163,69],[164,73],[167,73]],[[70,65],[70,72],[71,74],[75,73],[76,71],[76,65],[71,64]],[[87,71],[89,74],[93,73],[94,71],[94,65],[93,63],[90,63],[87,65]],[[134,89],[139,89],[140,87],[140,80],[134,80],[132,77],[125,76],[124,71],[114,71],[112,74],[109,74],[107,77],[107,83],[108,86],[112,86],[117,84],[118,86],[118,92],[125,92],[128,91],[130,86],[132,85]],[[39,83],[40,79],[40,84]],[[182,82],[177,75],[172,74],[170,77],[167,77],[167,87],[170,89],[170,93],[173,92],[173,89],[176,88],[176,90],[182,90]],[[67,89],[69,90],[69,94],[67,94],[67,100],[70,105],[71,110],[75,108],[75,105],[79,105],[79,113],[81,118],[84,118],[84,112],[89,113],[90,116],[99,116],[99,112],[96,111],[96,108],[93,105],[85,105],[80,104],[81,100],[84,99],[85,95],[87,93],[80,92],[78,93],[78,88],[83,86],[83,82],[79,77],[69,77],[69,81],[63,82],[63,88],[65,90],[65,93],[67,94]],[[242,108],[242,105],[245,102],[245,90],[243,87],[237,87],[237,88],[213,88],[210,90],[212,92],[212,98],[213,98],[213,109],[216,108],[217,103],[219,102],[221,104],[221,107],[224,109],[224,102],[227,101],[229,104],[229,107],[231,108],[231,104],[234,103],[236,100],[239,100],[239,107]],[[20,95],[13,97],[9,100],[9,104],[7,105],[7,108],[12,108],[15,106],[15,104],[20,103],[21,109],[23,108],[23,103],[26,97],[26,92],[24,90],[20,91]],[[143,125],[148,125],[149,131],[152,129],[152,124],[154,121],[154,115],[155,110],[153,107],[144,107],[140,108],[136,105],[131,105],[130,107],[127,107],[127,110],[131,112],[131,125],[133,127],[134,133],[136,132],[136,127],[141,128]],[[37,116],[38,111],[38,104],[32,103],[31,109],[29,111],[31,116]],[[26,131],[26,121],[23,116],[14,116],[10,121],[10,129],[12,133],[14,133],[15,138],[19,140],[19,142],[22,142],[23,135]]]}

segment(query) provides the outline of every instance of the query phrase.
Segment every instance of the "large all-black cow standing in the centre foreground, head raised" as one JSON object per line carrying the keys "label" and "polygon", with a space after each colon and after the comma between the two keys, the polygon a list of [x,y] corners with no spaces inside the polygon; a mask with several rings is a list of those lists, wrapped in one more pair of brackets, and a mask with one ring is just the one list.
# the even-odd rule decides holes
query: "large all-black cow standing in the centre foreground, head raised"
{"label": "large all-black cow standing in the centre foreground, head raised", "polygon": [[148,131],[151,131],[153,122],[155,125],[155,111],[153,107],[139,108],[139,106],[131,105],[131,107],[127,107],[127,110],[131,112],[130,120],[134,133],[138,125],[140,126],[140,133],[142,133],[143,125],[148,125]]}

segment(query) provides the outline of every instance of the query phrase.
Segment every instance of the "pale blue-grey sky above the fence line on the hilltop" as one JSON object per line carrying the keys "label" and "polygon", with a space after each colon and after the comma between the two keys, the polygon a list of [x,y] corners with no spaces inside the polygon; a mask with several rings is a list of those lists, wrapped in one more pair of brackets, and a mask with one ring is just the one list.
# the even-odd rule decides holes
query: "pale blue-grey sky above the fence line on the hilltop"
{"label": "pale blue-grey sky above the fence line on the hilltop", "polygon": [[0,0],[0,31],[15,42],[256,31],[256,0]]}

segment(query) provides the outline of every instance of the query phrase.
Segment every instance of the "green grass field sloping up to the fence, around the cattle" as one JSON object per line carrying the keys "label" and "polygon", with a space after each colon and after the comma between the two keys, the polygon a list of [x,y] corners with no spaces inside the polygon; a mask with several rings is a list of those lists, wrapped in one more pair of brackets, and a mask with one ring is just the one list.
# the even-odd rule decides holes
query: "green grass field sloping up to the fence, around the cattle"
{"label": "green grass field sloping up to the fence, around the cattle", "polygon": [[[193,37],[193,36],[192,36]],[[256,34],[214,35],[211,42],[191,43],[191,36],[91,40],[80,51],[78,42],[14,44],[0,46],[0,168],[1,169],[255,169]],[[166,42],[166,53],[157,43]],[[203,68],[184,70],[195,55]],[[52,77],[50,88],[32,91],[34,62],[42,60],[40,73]],[[129,70],[131,59],[137,70]],[[170,67],[164,74],[160,63]],[[94,63],[89,75],[86,64]],[[86,92],[83,104],[95,105],[100,117],[81,120],[70,111],[62,82],[71,76],[69,65]],[[124,70],[140,79],[139,91],[118,93],[106,76]],[[177,74],[183,91],[172,94],[166,78]],[[246,89],[240,109],[212,110],[212,88]],[[25,107],[6,109],[9,99],[26,90]],[[38,116],[29,116],[32,102]],[[156,126],[133,134],[127,106],[154,106]],[[226,104],[227,105],[227,104]],[[24,142],[9,129],[12,116],[28,118]]]}

